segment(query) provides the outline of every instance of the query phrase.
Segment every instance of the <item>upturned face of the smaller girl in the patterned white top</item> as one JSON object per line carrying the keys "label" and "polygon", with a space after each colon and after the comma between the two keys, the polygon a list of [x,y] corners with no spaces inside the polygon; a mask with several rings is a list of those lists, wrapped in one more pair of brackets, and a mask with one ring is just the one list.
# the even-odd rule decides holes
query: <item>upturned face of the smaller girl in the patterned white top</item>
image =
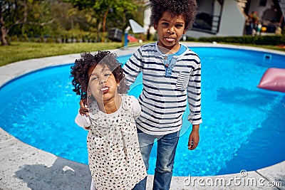
{"label": "upturned face of the smaller girl in the patterned white top", "polygon": [[88,70],[88,88],[97,102],[111,100],[118,95],[118,85],[112,70],[107,65],[98,64]]}

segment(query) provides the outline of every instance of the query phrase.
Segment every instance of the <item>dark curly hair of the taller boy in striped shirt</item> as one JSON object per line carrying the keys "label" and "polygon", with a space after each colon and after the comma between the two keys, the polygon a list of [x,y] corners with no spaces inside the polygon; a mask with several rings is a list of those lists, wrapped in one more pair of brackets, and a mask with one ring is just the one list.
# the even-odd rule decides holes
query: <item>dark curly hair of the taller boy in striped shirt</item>
{"label": "dark curly hair of the taller boy in striped shirt", "polygon": [[192,27],[197,13],[196,0],[150,0],[151,16],[150,22],[152,25],[157,25],[165,11],[168,11],[172,16],[183,16],[185,20],[185,29]]}

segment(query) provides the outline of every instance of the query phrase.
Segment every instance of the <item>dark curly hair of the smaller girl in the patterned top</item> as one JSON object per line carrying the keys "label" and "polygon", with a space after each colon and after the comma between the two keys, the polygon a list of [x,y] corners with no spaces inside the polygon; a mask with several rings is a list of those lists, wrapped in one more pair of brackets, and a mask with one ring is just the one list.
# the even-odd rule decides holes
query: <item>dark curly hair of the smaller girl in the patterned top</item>
{"label": "dark curly hair of the smaller girl in the patterned top", "polygon": [[118,93],[126,93],[129,86],[125,83],[123,68],[121,63],[118,62],[116,54],[110,53],[110,51],[98,51],[94,55],[89,52],[82,53],[81,58],[76,59],[74,65],[71,66],[73,91],[76,95],[81,95],[81,99],[86,98],[89,83],[88,70],[95,68],[98,64],[106,65],[112,70],[116,82],[120,83]]}

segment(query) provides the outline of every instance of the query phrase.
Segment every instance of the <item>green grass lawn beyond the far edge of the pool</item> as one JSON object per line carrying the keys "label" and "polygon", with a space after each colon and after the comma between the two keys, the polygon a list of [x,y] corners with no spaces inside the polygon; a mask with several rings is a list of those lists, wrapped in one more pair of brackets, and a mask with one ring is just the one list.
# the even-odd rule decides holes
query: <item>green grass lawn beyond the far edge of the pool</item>
{"label": "green grass lawn beyond the far edge of the pool", "polygon": [[[245,46],[244,44],[237,44]],[[250,46],[250,45],[249,45]],[[0,46],[0,66],[14,63],[19,60],[31,58],[43,58],[48,56],[59,56],[71,53],[82,53],[84,51],[100,51],[121,48],[122,43],[26,43],[12,42],[10,46]],[[285,51],[285,48],[277,46],[255,46]]]}

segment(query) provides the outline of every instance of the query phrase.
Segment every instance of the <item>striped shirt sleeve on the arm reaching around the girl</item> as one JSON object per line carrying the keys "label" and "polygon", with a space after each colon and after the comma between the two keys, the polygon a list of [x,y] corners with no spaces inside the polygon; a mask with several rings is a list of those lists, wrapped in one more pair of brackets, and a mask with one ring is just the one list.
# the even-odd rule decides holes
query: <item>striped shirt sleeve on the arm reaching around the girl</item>
{"label": "striped shirt sleeve on the arm reaching around the girl", "polygon": [[123,71],[126,79],[127,85],[133,85],[135,78],[142,71],[143,61],[142,61],[142,51],[139,48],[138,51],[133,53],[133,56],[125,63],[123,66]]}

